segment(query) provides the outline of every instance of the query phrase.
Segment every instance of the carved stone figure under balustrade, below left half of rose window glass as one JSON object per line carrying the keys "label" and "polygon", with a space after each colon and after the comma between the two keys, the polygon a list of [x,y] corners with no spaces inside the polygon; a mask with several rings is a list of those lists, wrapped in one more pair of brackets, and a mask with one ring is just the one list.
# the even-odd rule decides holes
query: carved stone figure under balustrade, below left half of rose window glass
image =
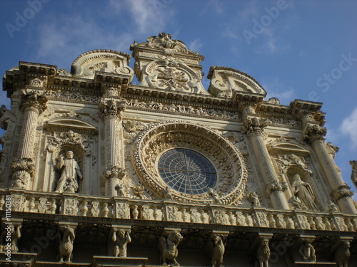
{"label": "carved stone figure under balustrade, below left half of rose window glass", "polygon": [[169,236],[161,236],[159,239],[159,249],[161,251],[161,261],[164,265],[172,264],[179,266],[176,258],[178,256],[178,243],[182,239],[181,234],[178,231],[171,231]]}

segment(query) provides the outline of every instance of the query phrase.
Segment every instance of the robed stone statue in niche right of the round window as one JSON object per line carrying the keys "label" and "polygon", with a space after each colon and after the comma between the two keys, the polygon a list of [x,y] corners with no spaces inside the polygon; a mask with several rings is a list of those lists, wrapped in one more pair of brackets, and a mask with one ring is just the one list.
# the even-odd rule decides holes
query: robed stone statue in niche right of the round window
{"label": "robed stone statue in niche right of the round window", "polygon": [[301,181],[300,175],[295,174],[293,176],[293,183],[291,184],[293,188],[293,194],[301,200],[308,209],[312,211],[318,211],[318,207],[316,206],[314,200],[315,195],[313,194],[313,189],[311,185],[307,182]]}

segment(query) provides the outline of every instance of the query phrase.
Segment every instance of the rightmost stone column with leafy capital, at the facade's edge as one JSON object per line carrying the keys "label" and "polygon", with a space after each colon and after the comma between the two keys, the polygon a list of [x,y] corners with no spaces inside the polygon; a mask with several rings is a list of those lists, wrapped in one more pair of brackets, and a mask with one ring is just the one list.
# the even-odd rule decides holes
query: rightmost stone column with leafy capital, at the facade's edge
{"label": "rightmost stone column with leafy capital, at the facade's edge", "polygon": [[328,153],[323,136],[326,135],[326,128],[313,123],[306,123],[303,132],[303,139],[313,147],[318,162],[327,178],[328,185],[333,192],[338,206],[343,213],[357,214],[356,207],[353,204],[351,196],[353,192],[350,187],[343,182],[340,172],[336,167],[332,155]]}

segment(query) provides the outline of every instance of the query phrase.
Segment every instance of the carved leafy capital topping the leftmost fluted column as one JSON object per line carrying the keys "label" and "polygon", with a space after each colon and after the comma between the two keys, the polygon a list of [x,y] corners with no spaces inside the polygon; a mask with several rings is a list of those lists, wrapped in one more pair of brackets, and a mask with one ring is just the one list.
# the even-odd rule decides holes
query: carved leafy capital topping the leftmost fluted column
{"label": "carved leafy capital topping the leftmost fluted column", "polygon": [[33,108],[41,114],[47,108],[48,98],[44,93],[39,93],[31,90],[23,90],[21,97],[21,110],[25,111],[28,108]]}

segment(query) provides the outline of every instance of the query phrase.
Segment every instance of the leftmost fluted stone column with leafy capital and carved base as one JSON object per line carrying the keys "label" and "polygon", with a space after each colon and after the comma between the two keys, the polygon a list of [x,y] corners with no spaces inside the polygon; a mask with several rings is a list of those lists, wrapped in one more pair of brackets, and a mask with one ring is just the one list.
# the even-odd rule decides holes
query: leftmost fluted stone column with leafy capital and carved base
{"label": "leftmost fluted stone column with leafy capital and carved base", "polygon": [[11,187],[28,189],[30,179],[34,178],[34,145],[37,119],[46,110],[48,99],[43,94],[26,92],[22,95],[20,108],[24,112],[24,121],[19,142],[18,159],[12,162],[14,174]]}

